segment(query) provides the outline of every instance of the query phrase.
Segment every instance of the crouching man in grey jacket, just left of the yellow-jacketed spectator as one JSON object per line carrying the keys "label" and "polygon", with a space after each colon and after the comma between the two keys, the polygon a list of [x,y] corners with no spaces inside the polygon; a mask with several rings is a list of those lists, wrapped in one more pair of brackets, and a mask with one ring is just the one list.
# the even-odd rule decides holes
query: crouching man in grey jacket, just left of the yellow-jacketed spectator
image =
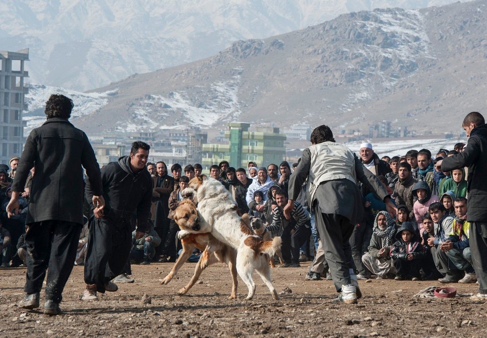
{"label": "crouching man in grey jacket, just left of the yellow-jacketed spectator", "polygon": [[440,202],[429,206],[431,219],[435,223],[435,237],[428,238],[428,245],[435,262],[436,269],[444,276],[438,281],[441,283],[457,283],[463,276],[454,266],[450,266],[449,259],[441,245],[448,240],[453,232],[453,217],[446,215],[446,209]]}

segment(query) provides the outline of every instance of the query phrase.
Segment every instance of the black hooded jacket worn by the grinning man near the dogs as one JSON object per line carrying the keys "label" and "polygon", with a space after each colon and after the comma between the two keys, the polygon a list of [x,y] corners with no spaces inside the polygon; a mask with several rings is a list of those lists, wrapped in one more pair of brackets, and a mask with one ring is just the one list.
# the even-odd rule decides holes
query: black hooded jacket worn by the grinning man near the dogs
{"label": "black hooded jacket worn by the grinning man near the dogs", "polygon": [[[149,171],[141,169],[133,172],[129,166],[130,157],[123,156],[118,162],[103,167],[102,184],[105,198],[104,218],[117,223],[128,220],[133,213],[137,215],[137,230],[149,230],[149,214],[152,198],[152,177]],[[93,209],[93,192],[86,179],[86,198]]]}

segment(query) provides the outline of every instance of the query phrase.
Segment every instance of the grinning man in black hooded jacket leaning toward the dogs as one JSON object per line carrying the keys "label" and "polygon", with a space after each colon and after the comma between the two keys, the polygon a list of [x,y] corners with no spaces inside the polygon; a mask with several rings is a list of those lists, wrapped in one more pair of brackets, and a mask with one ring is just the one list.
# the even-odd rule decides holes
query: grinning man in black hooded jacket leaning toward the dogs
{"label": "grinning man in black hooded jacket leaning toward the dogs", "polygon": [[[137,217],[135,239],[150,229],[152,178],[145,169],[149,149],[148,144],[135,141],[129,156],[121,157],[118,162],[111,162],[102,169],[106,206],[92,205],[95,217],[90,220],[83,300],[96,300],[97,292],[118,290],[111,280],[122,273],[130,253],[131,215],[136,214]],[[87,178],[87,200],[91,200],[92,194]]]}

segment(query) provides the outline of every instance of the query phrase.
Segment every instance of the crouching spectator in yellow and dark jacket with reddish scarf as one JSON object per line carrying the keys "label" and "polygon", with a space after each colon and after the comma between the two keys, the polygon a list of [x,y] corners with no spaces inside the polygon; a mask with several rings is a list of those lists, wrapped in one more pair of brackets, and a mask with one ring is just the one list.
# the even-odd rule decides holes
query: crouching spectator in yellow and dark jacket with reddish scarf
{"label": "crouching spectator in yellow and dark jacket with reddish scarf", "polygon": [[453,232],[441,245],[450,261],[460,271],[465,271],[465,276],[459,283],[475,283],[477,275],[472,266],[472,254],[470,252],[469,229],[467,221],[467,198],[459,197],[455,200],[455,219],[453,220]]}

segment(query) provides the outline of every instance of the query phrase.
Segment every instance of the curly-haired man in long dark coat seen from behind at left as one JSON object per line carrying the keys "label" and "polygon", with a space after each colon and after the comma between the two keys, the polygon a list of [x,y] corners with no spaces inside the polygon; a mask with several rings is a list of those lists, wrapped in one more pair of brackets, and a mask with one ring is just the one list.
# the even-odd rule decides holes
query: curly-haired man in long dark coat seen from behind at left
{"label": "curly-haired man in long dark coat seen from behind at left", "polygon": [[63,95],[51,95],[46,102],[47,121],[30,133],[25,142],[12,185],[12,197],[6,207],[8,217],[18,213],[18,196],[24,190],[29,170],[35,168],[25,234],[27,274],[25,298],[18,303],[24,309],[39,307],[39,292],[49,268],[44,313],[58,315],[62,292],[76,258],[83,226],[83,169],[92,187],[90,201],[99,209],[102,196],[100,167],[86,134],[68,119],[73,101]]}

